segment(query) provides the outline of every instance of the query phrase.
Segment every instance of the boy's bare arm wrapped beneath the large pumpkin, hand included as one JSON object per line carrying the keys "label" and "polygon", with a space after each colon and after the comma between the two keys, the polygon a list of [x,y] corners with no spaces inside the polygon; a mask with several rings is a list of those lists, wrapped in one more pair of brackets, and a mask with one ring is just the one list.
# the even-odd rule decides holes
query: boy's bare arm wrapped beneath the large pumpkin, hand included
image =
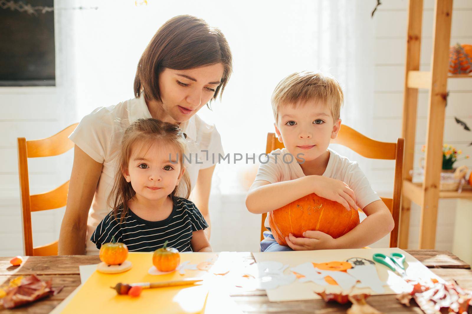
{"label": "boy's bare arm wrapped beneath the large pumpkin, hand included", "polygon": [[333,239],[321,231],[305,231],[305,238],[286,238],[287,244],[294,250],[315,250],[329,248],[363,248],[382,239],[394,227],[394,221],[387,206],[376,200],[366,207],[363,212],[367,215],[362,223],[345,235]]}

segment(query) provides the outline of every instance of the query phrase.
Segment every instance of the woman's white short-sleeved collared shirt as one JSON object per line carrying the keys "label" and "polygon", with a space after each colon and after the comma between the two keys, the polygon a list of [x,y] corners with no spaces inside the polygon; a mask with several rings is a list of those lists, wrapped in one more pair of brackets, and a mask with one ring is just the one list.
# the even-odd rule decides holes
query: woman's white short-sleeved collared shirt
{"label": "woman's white short-sleeved collared shirt", "polygon": [[[84,116],[69,136],[69,139],[88,156],[103,164],[88,215],[85,254],[98,254],[98,249],[90,241],[90,237],[96,226],[111,210],[108,196],[113,187],[116,157],[122,135],[125,129],[139,118],[151,118],[143,94],[140,98],[129,99],[114,106],[96,108],[91,114]],[[197,115],[180,124],[180,127],[187,134],[187,157],[192,160],[188,162],[184,159],[184,162],[186,172],[190,176],[191,189],[193,189],[198,172],[213,166],[211,154],[215,154],[216,157],[219,154],[224,155],[223,147],[215,126],[205,123]]]}

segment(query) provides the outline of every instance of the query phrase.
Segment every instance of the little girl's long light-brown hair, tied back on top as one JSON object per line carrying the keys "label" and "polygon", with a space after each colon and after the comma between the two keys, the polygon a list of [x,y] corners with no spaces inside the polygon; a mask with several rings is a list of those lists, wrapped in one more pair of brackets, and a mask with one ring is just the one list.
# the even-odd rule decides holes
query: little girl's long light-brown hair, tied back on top
{"label": "little girl's long light-brown hair, tied back on top", "polygon": [[[156,119],[138,119],[130,124],[121,141],[121,150],[119,152],[117,171],[115,173],[115,183],[108,197],[108,203],[113,210],[115,218],[118,217],[118,212],[123,209],[120,222],[124,220],[129,208],[128,202],[136,194],[131,186],[131,182],[126,182],[124,176],[133,150],[136,149],[136,144],[139,143],[148,147],[151,145],[171,145],[177,149],[177,162],[183,165],[183,156],[186,151],[185,138],[185,133],[177,124],[162,122]],[[190,177],[187,172],[184,172],[180,183],[170,194],[172,200],[174,200],[174,196],[177,194],[178,190],[180,191],[182,186],[186,188],[185,198],[188,198],[190,195]]]}

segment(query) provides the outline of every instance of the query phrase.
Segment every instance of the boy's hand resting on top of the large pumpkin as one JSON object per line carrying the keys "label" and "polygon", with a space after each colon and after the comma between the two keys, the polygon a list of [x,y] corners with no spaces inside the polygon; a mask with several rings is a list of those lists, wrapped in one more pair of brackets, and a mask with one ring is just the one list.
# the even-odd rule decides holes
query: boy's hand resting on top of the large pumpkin
{"label": "boy's hand resting on top of the large pumpkin", "polygon": [[322,175],[314,175],[313,185],[313,193],[316,195],[338,202],[346,207],[347,210],[351,210],[349,206],[357,209],[354,191],[345,182]]}

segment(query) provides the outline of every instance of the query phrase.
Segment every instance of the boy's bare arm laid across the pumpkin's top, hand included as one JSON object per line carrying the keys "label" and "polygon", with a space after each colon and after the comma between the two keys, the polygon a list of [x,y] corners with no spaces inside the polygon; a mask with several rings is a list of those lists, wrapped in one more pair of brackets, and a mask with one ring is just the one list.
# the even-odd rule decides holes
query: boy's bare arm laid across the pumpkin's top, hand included
{"label": "boy's bare arm laid across the pumpkin's top, hand included", "polygon": [[347,209],[349,206],[357,208],[354,191],[346,183],[321,175],[276,183],[254,181],[246,196],[246,207],[253,214],[263,214],[311,193],[337,201]]}

